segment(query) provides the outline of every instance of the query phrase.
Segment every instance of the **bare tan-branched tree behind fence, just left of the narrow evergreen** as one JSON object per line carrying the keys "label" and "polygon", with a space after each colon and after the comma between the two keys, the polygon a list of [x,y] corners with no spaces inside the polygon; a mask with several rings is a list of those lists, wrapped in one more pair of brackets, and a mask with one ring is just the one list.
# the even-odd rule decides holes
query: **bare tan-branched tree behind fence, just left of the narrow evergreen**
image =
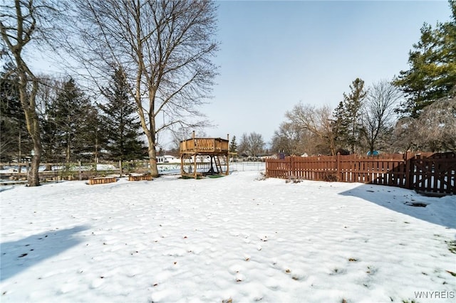
{"label": "bare tan-branched tree behind fence, just left of the narrow evergreen", "polygon": [[336,154],[336,140],[332,130],[331,107],[314,107],[303,105],[301,102],[295,105],[293,110],[286,112],[285,116],[301,129],[307,129],[316,137],[320,138],[332,155]]}

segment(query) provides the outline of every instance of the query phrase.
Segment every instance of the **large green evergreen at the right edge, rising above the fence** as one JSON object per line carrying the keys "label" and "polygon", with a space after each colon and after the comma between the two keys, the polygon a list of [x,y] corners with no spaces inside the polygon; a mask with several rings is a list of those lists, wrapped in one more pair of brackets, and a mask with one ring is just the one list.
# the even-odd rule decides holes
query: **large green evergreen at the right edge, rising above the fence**
{"label": "large green evergreen at the right edge, rising above the fence", "polygon": [[409,70],[401,70],[394,84],[405,93],[398,108],[405,117],[419,117],[423,108],[447,96],[456,83],[456,1],[450,0],[452,21],[424,23],[418,43],[409,52]]}

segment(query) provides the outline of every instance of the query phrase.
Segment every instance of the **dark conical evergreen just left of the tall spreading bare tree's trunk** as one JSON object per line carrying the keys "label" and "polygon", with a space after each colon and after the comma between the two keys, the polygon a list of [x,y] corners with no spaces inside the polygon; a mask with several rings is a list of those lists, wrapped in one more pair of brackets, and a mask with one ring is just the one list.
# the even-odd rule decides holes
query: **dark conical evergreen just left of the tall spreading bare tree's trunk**
{"label": "dark conical evergreen just left of the tall spreading bare tree's trunk", "polygon": [[99,105],[108,139],[107,149],[117,160],[132,160],[144,156],[140,141],[140,120],[136,105],[128,95],[128,83],[122,68],[116,68],[111,83],[103,90],[108,102]]}

